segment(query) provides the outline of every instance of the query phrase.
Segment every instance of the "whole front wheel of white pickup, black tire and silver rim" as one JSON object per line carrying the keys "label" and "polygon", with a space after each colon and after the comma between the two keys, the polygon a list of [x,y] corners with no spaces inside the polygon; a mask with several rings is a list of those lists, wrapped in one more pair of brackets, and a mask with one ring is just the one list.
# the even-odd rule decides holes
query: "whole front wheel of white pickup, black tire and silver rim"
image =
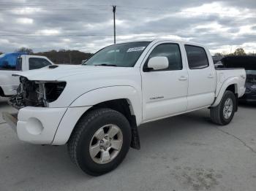
{"label": "whole front wheel of white pickup, black tire and silver rim", "polygon": [[116,168],[127,155],[131,128],[113,109],[95,109],[83,116],[68,142],[72,161],[84,172],[99,176]]}

